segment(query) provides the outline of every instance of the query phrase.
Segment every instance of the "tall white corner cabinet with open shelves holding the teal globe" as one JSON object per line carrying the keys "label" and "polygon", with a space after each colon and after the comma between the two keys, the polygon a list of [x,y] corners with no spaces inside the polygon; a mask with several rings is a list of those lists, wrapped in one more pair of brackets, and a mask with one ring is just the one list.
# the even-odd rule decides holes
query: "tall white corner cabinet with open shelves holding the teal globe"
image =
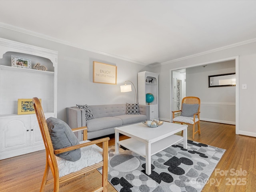
{"label": "tall white corner cabinet with open shelves holding the teal globe", "polygon": [[[152,94],[154,100],[151,103],[146,101],[146,94]],[[138,73],[138,102],[148,104],[150,120],[158,120],[158,74],[148,71]]]}

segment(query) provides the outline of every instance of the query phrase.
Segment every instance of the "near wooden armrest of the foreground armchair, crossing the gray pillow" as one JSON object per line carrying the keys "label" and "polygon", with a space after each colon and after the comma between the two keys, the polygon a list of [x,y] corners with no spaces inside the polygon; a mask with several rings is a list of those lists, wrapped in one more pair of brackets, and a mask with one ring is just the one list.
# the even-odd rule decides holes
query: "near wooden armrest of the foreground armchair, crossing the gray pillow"
{"label": "near wooden armrest of the foreground armchair, crossing the gray pillow", "polygon": [[103,148],[104,148],[104,145],[107,144],[107,146],[108,146],[108,140],[110,140],[110,138],[106,137],[106,138],[97,139],[94,141],[90,141],[90,142],[86,142],[86,143],[82,143],[82,144],[78,144],[78,145],[74,145],[74,146],[70,146],[70,147],[66,147],[66,148],[62,148],[62,149],[57,149],[57,150],[54,150],[54,154],[64,153],[67,151],[75,150],[78,148],[90,146],[90,145],[97,144],[97,143],[103,143]]}

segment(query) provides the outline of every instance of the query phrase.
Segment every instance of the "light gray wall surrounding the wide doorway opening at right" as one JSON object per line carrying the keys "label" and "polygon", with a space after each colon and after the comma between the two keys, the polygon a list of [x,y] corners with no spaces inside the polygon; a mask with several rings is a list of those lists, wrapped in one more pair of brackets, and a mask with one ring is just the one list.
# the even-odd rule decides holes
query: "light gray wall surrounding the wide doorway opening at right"
{"label": "light gray wall surrounding the wide doorway opening at right", "polygon": [[[238,133],[256,137],[254,119],[256,117],[256,42],[242,44],[227,49],[216,50],[207,54],[184,58],[154,68],[159,73],[159,117],[170,120],[170,70],[187,68],[215,60],[239,56],[239,85],[238,85]],[[188,82],[186,82],[188,83]],[[247,89],[242,89],[247,84]],[[202,100],[202,102],[206,102]],[[236,122],[237,123],[237,122]],[[237,124],[236,124],[237,125]]]}

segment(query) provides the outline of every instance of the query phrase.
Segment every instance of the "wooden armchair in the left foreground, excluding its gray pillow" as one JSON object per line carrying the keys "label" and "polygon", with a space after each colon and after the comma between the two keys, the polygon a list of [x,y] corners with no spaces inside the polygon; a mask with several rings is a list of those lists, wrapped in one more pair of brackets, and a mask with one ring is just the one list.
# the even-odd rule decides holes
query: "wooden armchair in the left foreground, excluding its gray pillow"
{"label": "wooden armchair in the left foreground, excluding its gray pillow", "polygon": [[[52,140],[50,137],[50,133],[48,130],[47,122],[46,122],[40,101],[38,100],[38,98],[34,97],[33,103],[34,103],[34,109],[36,112],[38,124],[39,124],[40,130],[41,130],[41,133],[42,133],[42,138],[44,140],[44,145],[45,145],[45,149],[46,149],[46,167],[44,170],[44,177],[42,180],[40,192],[43,192],[45,185],[48,183],[51,183],[51,182],[54,183],[53,191],[58,192],[60,183],[66,182],[67,180],[73,179],[77,176],[81,176],[82,174],[86,174],[87,172],[90,172],[90,171],[95,170],[100,167],[102,167],[102,186],[96,188],[94,190],[94,192],[100,192],[100,191],[107,192],[107,190],[108,190],[107,184],[108,184],[108,140],[109,140],[109,138],[102,138],[102,139],[98,139],[98,140],[94,140],[94,141],[86,141],[86,142],[82,141],[82,142],[80,142],[81,144],[54,150],[53,145],[52,145]],[[72,129],[73,132],[80,131],[80,130],[82,130],[84,132],[83,139],[86,140],[87,139],[87,128],[86,127]],[[97,143],[103,143],[103,149],[98,147],[96,145]],[[56,155],[64,153],[64,152],[69,152],[71,150],[76,150],[79,148],[81,148],[81,151],[82,150],[86,151],[89,149],[96,151],[94,149],[94,148],[96,148],[98,150],[97,155],[100,156],[100,161],[97,163],[94,163],[92,165],[88,165],[87,167],[82,167],[82,169],[80,169],[76,172],[65,173],[64,175],[62,174],[63,176],[60,176],[61,168],[58,167],[57,162],[59,162],[58,160],[60,160],[60,159],[61,160],[64,160],[64,159],[59,158]],[[83,157],[83,154],[79,160],[77,160],[75,162],[72,162],[72,161],[70,161],[70,162],[73,163],[73,165],[76,163],[80,163],[79,161],[82,160],[82,157]],[[94,158],[94,156],[90,155],[88,158]],[[68,160],[64,160],[64,161],[66,161],[65,165],[67,163],[67,166],[68,166],[69,161]],[[84,164],[86,164],[86,163],[82,162],[82,163],[80,163],[80,166],[84,166]],[[50,180],[47,180],[49,168],[51,168],[53,178]]]}

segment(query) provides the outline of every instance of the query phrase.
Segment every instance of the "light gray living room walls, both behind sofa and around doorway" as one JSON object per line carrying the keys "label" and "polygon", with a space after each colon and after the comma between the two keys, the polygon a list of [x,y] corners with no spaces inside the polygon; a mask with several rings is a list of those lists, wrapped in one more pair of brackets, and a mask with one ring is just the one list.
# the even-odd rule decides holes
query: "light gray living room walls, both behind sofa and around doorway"
{"label": "light gray living room walls, both behind sofa and around doorway", "polygon": [[[0,37],[58,51],[58,118],[62,120],[66,120],[66,107],[74,106],[77,103],[91,105],[135,102],[134,92],[120,93],[120,85],[125,80],[131,80],[137,88],[137,72],[145,70],[160,74],[159,117],[170,120],[171,69],[187,68],[205,62],[239,56],[239,69],[237,69],[239,70],[239,134],[256,137],[254,128],[256,42],[184,58],[156,68],[147,68],[6,28],[0,28]],[[93,60],[117,66],[117,85],[92,83]],[[246,90],[242,90],[242,84],[247,84]]]}

